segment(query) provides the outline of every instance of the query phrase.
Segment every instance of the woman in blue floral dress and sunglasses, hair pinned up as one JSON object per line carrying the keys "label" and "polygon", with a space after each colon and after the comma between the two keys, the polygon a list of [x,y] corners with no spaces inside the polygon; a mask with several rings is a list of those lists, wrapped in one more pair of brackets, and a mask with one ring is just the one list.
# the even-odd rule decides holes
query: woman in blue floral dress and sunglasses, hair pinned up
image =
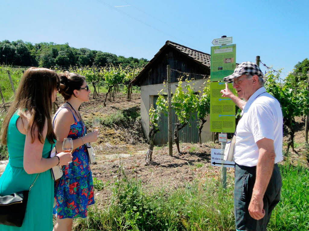
{"label": "woman in blue floral dress and sunglasses, hair pinned up", "polygon": [[95,203],[93,181],[89,165],[86,143],[97,140],[98,132],[87,134],[78,107],[89,101],[90,90],[85,77],[65,72],[60,75],[60,91],[65,103],[58,109],[53,119],[54,132],[58,138],[57,152],[62,151],[64,138],[72,138],[72,163],[63,166],[63,176],[55,182],[57,214],[54,231],[71,230],[73,219],[87,217],[87,208]]}

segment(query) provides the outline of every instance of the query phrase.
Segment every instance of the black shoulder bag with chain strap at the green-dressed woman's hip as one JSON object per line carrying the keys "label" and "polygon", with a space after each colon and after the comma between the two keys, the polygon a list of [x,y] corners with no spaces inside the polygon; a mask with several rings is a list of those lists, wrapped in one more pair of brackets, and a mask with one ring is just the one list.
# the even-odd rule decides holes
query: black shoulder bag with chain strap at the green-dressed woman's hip
{"label": "black shoulder bag with chain strap at the green-dressed woman's hip", "polygon": [[[36,175],[38,178],[40,173]],[[28,202],[28,194],[31,190],[33,181],[29,190],[12,193],[8,196],[0,197],[0,224],[21,227],[23,225],[23,218],[25,217],[26,207]]]}

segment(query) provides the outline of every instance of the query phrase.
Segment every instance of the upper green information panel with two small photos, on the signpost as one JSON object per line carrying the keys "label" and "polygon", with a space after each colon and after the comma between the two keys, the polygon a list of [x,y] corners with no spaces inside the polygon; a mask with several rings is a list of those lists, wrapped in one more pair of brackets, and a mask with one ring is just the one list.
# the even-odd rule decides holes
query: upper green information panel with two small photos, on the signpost
{"label": "upper green information panel with two small photos, on the signpost", "polygon": [[211,47],[210,80],[221,81],[236,68],[236,44]]}

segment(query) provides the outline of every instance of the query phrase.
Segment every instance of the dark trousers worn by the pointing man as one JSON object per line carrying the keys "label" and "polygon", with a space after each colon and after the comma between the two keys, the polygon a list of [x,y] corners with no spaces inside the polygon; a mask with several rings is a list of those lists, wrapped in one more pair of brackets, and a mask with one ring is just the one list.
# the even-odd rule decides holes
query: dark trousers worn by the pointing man
{"label": "dark trousers worn by the pointing man", "polygon": [[252,218],[248,207],[255,179],[256,166],[235,165],[234,214],[236,230],[238,231],[266,231],[270,215],[280,201],[282,181],[279,167],[275,164],[263,197],[265,216],[260,220]]}

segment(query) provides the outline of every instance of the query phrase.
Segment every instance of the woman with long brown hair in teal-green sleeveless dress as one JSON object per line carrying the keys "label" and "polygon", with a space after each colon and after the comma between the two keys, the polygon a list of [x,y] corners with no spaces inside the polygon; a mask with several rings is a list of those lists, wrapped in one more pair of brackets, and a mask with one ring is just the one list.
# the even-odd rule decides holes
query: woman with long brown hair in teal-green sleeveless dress
{"label": "woman with long brown hair in teal-green sleeveless dress", "polygon": [[1,231],[53,229],[54,182],[50,168],[67,165],[72,159],[68,152],[49,158],[56,141],[51,108],[59,83],[55,71],[29,68],[3,121],[1,142],[7,144],[9,163],[0,177],[0,196],[28,190],[39,175],[28,195],[23,225],[0,225]]}

